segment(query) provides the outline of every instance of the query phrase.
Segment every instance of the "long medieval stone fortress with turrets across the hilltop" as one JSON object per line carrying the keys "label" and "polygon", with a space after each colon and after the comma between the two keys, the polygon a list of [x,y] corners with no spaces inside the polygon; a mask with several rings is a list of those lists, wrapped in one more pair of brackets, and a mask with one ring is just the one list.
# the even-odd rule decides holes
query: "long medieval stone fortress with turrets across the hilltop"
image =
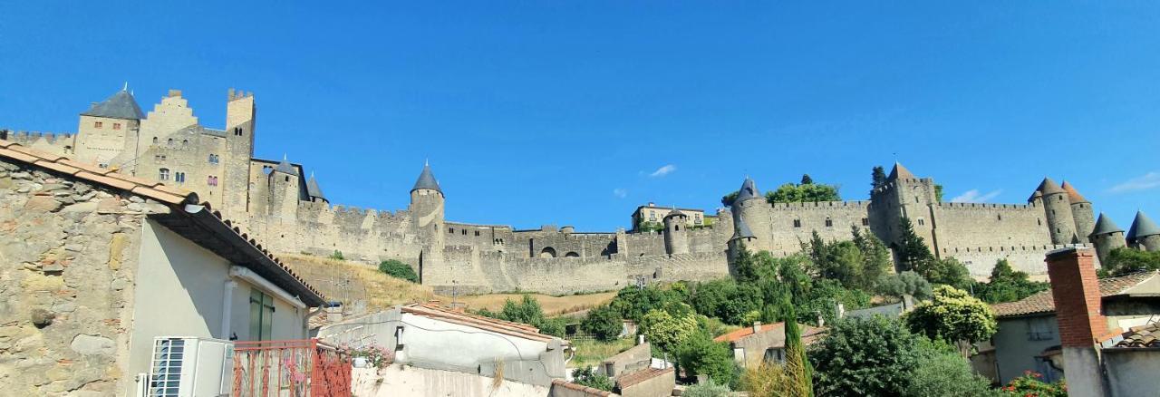
{"label": "long medieval stone fortress with turrets across the hilltop", "polygon": [[[1044,254],[1065,246],[1094,246],[1100,257],[1125,244],[1160,250],[1160,228],[1143,214],[1125,236],[1108,217],[1096,219],[1092,203],[1067,182],[1044,179],[1027,203],[948,203],[936,198],[931,178],[900,164],[869,201],[771,204],[745,179],[728,210],[665,210],[660,231],[517,230],[447,221],[447,197],[430,165],[423,165],[406,209],[349,208],[332,204],[302,165],[254,158],[255,115],[254,95],[230,89],[225,125],[213,129],[180,91],[169,91],[146,114],[122,89],[80,113],[77,133],[3,130],[0,138],[195,192],[273,252],[338,251],[367,262],[404,261],[443,294],[570,294],[717,279],[730,274],[730,251],[741,244],[788,255],[813,232],[844,240],[857,226],[894,247],[902,218],[935,255],[960,260],[976,276],[1003,258],[1043,276]],[[657,210],[638,209],[635,224]]]}

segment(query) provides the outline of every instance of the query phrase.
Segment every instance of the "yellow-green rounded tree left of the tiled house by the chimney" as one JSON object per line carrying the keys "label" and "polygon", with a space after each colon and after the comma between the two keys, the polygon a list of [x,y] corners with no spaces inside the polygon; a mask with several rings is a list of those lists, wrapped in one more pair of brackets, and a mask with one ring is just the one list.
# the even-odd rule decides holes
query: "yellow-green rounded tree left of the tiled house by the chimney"
{"label": "yellow-green rounded tree left of the tiled house by the chimney", "polygon": [[999,330],[991,305],[950,286],[935,287],[935,297],[904,316],[911,331],[930,339],[977,342]]}

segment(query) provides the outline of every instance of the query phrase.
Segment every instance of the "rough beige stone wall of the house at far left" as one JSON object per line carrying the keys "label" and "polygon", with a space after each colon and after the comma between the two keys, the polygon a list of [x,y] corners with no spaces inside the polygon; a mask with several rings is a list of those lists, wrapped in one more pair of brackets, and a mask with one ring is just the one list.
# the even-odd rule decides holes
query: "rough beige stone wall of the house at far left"
{"label": "rough beige stone wall of the house at far left", "polygon": [[0,163],[0,394],[125,389],[143,212],[165,210]]}

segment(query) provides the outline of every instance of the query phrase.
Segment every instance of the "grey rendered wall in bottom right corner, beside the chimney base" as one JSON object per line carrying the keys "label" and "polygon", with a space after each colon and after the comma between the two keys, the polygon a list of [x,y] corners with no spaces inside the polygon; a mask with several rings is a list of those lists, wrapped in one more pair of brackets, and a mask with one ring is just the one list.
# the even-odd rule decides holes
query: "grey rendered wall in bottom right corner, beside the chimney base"
{"label": "grey rendered wall in bottom right corner, beside the chimney base", "polygon": [[1105,348],[1101,353],[1109,396],[1157,395],[1160,348]]}

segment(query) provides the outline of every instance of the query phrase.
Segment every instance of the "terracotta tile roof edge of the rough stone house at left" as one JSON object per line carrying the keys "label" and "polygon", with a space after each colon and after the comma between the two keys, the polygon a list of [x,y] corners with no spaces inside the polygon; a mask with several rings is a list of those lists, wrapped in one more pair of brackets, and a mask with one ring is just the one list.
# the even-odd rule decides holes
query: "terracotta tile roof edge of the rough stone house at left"
{"label": "terracotta tile roof edge of the rough stone house at left", "polygon": [[[80,163],[63,156],[56,156],[56,154],[44,153],[41,151],[35,151],[9,140],[0,139],[0,158],[7,158],[10,160],[15,160],[16,163],[22,163],[39,168],[50,169],[59,174],[65,174],[70,178],[75,178],[79,180],[92,182],[94,185],[104,186],[116,190],[128,192],[140,197],[153,198],[158,202],[169,204],[171,207],[176,208],[176,210],[179,211],[183,210],[181,208],[181,205],[183,204],[197,204],[204,207],[206,210],[212,211],[208,202],[198,203],[197,194],[193,192],[167,186],[161,182],[154,182],[137,176],[121,174],[117,173],[116,169],[101,168],[97,167],[96,165]],[[246,241],[246,244],[252,246],[254,250],[259,251],[262,255],[267,257],[269,260],[271,260],[274,264],[281,267],[282,270],[287,272],[287,274],[289,274],[293,280],[302,283],[302,286],[305,287],[307,290],[314,293],[318,296],[319,301],[325,302],[326,298],[322,295],[322,293],[320,293],[318,289],[306,283],[306,280],[304,280],[292,269],[290,269],[290,267],[282,264],[282,261],[275,258],[274,254],[271,254],[269,251],[262,248],[261,244],[249,238],[249,236],[241,232],[241,230],[238,229],[237,226],[232,226],[232,223],[229,219],[222,218],[222,212],[212,211],[211,214],[213,215],[213,217],[220,221],[225,226],[227,226],[233,231],[233,234],[235,236],[231,236],[231,238],[240,238],[242,241]]]}

